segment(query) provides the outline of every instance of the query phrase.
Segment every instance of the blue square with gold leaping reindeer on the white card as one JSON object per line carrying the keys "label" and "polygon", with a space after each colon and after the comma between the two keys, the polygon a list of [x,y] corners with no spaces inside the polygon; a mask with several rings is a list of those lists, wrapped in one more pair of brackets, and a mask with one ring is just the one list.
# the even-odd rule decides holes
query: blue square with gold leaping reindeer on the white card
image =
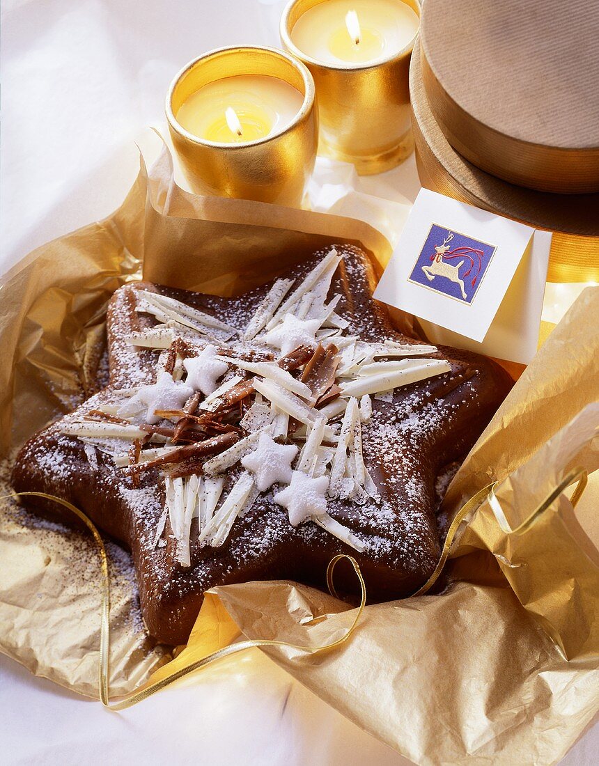
{"label": "blue square with gold leaping reindeer on the white card", "polygon": [[408,280],[472,303],[496,246],[433,224]]}

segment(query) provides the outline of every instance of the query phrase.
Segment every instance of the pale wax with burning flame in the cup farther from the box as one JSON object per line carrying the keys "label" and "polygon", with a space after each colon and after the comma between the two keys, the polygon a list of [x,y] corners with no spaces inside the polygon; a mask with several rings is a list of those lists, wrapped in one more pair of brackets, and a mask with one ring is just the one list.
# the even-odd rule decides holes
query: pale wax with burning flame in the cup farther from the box
{"label": "pale wax with burning flame in the cup farther from the box", "polygon": [[279,77],[241,74],[191,93],[176,118],[198,138],[243,143],[280,133],[299,113],[302,103],[299,90]]}

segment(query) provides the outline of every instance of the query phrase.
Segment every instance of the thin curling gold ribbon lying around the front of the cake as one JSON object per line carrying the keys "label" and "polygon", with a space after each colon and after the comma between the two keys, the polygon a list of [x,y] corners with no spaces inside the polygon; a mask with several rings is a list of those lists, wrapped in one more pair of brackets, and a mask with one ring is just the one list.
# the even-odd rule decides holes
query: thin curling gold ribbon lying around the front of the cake
{"label": "thin curling gold ribbon lying around the front of the cake", "polygon": [[[509,525],[509,522],[507,522],[506,516],[504,515],[502,508],[499,504],[499,499],[496,496],[495,489],[498,486],[499,482],[493,482],[485,487],[483,489],[480,489],[479,492],[476,493],[473,497],[470,498],[463,506],[462,508],[457,512],[456,516],[453,519],[453,522],[451,522],[450,528],[447,531],[447,536],[445,538],[444,546],[441,551],[441,555],[439,558],[439,561],[437,562],[437,566],[434,569],[434,572],[432,575],[430,575],[430,578],[424,583],[422,588],[419,588],[412,596],[421,596],[427,591],[430,590],[430,588],[433,587],[434,583],[439,578],[441,572],[444,569],[444,566],[447,562],[447,558],[449,558],[451,548],[453,546],[453,542],[455,542],[457,538],[457,532],[460,529],[460,525],[463,523],[470,522],[472,519],[474,513],[480,508],[480,506],[483,505],[484,502],[489,502],[489,506],[491,506],[491,509],[493,510],[494,515],[496,516],[497,522],[499,523],[499,526],[501,527],[503,532],[506,532],[506,534],[522,534],[522,532],[525,532],[526,529],[529,529],[529,527],[535,522],[535,519],[538,519],[538,517],[544,513],[548,508],[550,508],[556,499],[561,495],[561,493],[564,492],[564,490],[570,486],[575,481],[578,481],[578,486],[574,490],[574,493],[571,497],[571,504],[573,507],[576,506],[578,503],[578,500],[581,498],[582,493],[584,492],[584,487],[587,484],[587,472],[583,468],[578,468],[576,470],[571,471],[571,473],[568,473],[567,476],[559,483],[559,485],[548,495],[543,502],[539,503],[539,505],[535,508],[535,510],[531,513],[531,515],[524,521],[522,524],[516,527],[516,529],[512,529],[512,527]],[[364,611],[364,607],[366,604],[366,585],[364,578],[362,576],[362,571],[360,571],[360,567],[358,565],[358,561],[353,558],[353,556],[347,555],[345,553],[340,553],[336,555],[334,558],[332,558],[331,561],[329,561],[329,566],[326,569],[326,583],[329,587],[329,591],[331,592],[332,596],[338,597],[336,593],[335,586],[333,584],[333,572],[335,571],[336,565],[341,561],[342,559],[347,559],[349,563],[352,565],[355,574],[358,578],[358,581],[360,583],[360,591],[361,591],[361,597],[360,597],[360,605],[356,611],[355,618],[352,622],[352,624],[349,626],[349,628],[346,630],[346,632],[342,635],[341,638],[331,641],[330,643],[325,643],[320,646],[316,647],[306,647],[302,646],[300,644],[296,643],[289,643],[287,641],[277,641],[277,640],[270,640],[270,639],[248,639],[245,641],[241,641],[239,643],[232,643],[228,647],[223,647],[222,649],[219,649],[215,652],[212,652],[211,654],[208,654],[208,656],[203,657],[201,660],[197,660],[194,663],[190,663],[188,666],[183,667],[182,669],[177,670],[175,673],[172,673],[172,675],[160,679],[156,683],[153,683],[151,686],[146,686],[145,688],[139,689],[136,692],[132,692],[129,694],[129,696],[126,696],[125,699],[119,700],[119,702],[110,702],[109,694],[108,694],[108,685],[109,685],[109,650],[110,650],[110,580],[108,576],[108,559],[106,557],[106,548],[104,548],[104,543],[102,540],[102,537],[100,536],[100,532],[98,532],[96,525],[93,524],[93,522],[87,518],[85,513],[78,509],[76,506],[72,505],[72,503],[68,502],[67,500],[63,500],[60,497],[56,497],[54,495],[48,495],[47,493],[43,492],[21,492],[21,493],[12,493],[12,497],[41,497],[43,499],[52,500],[54,502],[57,502],[59,505],[64,506],[64,508],[67,508],[70,510],[70,512],[73,512],[75,516],[77,516],[78,519],[80,519],[86,526],[87,529],[90,530],[90,532],[93,535],[93,539],[96,542],[97,548],[100,552],[100,565],[101,565],[101,571],[102,571],[102,604],[100,608],[100,666],[99,666],[99,688],[100,688],[100,699],[103,703],[103,705],[106,706],[106,708],[110,710],[123,710],[125,708],[131,707],[131,705],[136,705],[137,702],[142,702],[143,699],[147,699],[148,697],[152,696],[156,692],[159,692],[161,689],[165,689],[166,686],[170,686],[172,683],[175,683],[178,679],[181,679],[185,676],[188,676],[190,673],[194,673],[196,670],[199,670],[201,668],[204,668],[211,663],[216,662],[217,660],[222,660],[224,657],[230,656],[231,654],[235,654],[237,652],[242,652],[246,649],[251,649],[254,647],[282,647],[286,649],[294,649],[299,650],[301,652],[304,652],[306,654],[319,654],[328,650],[336,649],[340,646],[342,646],[343,643],[345,643],[347,640],[349,640],[350,637],[352,637],[352,634],[355,631],[355,628],[358,625],[358,621],[360,620],[360,617],[362,617],[362,613]]]}

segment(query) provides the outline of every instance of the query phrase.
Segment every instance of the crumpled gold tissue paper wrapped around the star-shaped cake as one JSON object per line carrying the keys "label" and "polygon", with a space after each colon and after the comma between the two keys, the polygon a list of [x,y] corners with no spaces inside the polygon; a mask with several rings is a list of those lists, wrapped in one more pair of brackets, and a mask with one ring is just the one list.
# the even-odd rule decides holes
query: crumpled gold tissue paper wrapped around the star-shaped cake
{"label": "crumpled gold tissue paper wrapped around the star-shaped cake", "polygon": [[[3,453],[86,394],[85,370],[100,363],[106,300],[142,258],[147,278],[172,281],[176,272],[185,274],[181,286],[231,294],[332,241],[360,242],[388,258],[387,241],[366,224],[186,195],[166,154],[149,177],[142,167],[116,214],[38,248],[0,283],[0,339],[13,360],[0,372]],[[568,470],[597,468],[597,320],[599,289],[590,288],[472,450],[450,487],[448,512],[499,480],[496,496],[514,528]],[[4,469],[6,486],[8,463]],[[453,551],[442,594],[366,607],[341,650],[267,653],[417,763],[554,763],[599,706],[598,498],[596,472],[575,515],[562,495],[521,535],[502,532],[486,504]],[[12,500],[2,501],[0,519],[0,650],[97,696],[100,565],[92,540],[37,522]],[[188,647],[164,664],[169,650],[152,645],[136,612],[128,555],[116,545],[108,553],[113,696],[148,681],[152,669],[152,681],[168,677],[240,633],[316,645],[352,622],[353,610],[306,586],[215,588]],[[229,660],[224,671],[235,666]]]}

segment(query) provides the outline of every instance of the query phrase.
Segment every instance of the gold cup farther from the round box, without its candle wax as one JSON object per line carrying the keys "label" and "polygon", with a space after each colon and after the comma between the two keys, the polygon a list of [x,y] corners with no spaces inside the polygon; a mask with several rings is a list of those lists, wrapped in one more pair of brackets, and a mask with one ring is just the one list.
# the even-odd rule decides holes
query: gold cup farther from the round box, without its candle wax
{"label": "gold cup farther from the round box, without its candle wax", "polygon": [[[247,142],[201,138],[178,122],[178,111],[192,94],[238,75],[277,77],[299,90],[303,102],[296,116],[279,130]],[[172,143],[191,189],[201,194],[299,206],[318,147],[314,100],[309,70],[283,51],[225,47],[191,61],[176,75],[166,98]]]}

